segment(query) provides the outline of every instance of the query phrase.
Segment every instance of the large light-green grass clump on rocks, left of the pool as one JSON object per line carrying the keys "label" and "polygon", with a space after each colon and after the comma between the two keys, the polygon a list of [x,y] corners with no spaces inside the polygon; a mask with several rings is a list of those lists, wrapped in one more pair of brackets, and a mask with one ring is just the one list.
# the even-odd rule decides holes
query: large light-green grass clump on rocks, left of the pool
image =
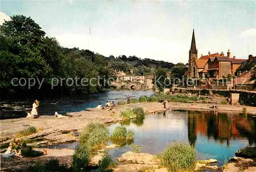
{"label": "large light-green grass clump on rocks, left of the pool", "polygon": [[103,124],[91,122],[81,132],[79,144],[87,144],[93,149],[106,145],[109,139],[109,129]]}

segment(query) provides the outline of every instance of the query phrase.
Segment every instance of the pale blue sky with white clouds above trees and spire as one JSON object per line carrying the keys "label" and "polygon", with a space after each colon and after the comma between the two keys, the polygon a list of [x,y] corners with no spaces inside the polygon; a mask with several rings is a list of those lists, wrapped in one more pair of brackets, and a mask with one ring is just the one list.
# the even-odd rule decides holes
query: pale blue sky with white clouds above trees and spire
{"label": "pale blue sky with white clouds above trees and spire", "polygon": [[187,63],[193,28],[199,57],[256,56],[256,1],[0,0],[0,24],[12,15],[31,17],[62,46],[104,56]]}

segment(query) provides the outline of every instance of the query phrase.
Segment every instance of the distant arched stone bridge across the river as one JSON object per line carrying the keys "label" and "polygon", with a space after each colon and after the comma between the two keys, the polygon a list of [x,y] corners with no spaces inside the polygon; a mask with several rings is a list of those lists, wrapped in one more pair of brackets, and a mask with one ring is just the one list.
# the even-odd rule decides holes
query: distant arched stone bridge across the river
{"label": "distant arched stone bridge across the river", "polygon": [[144,83],[131,82],[131,81],[114,81],[114,82],[111,82],[111,86],[114,88],[128,88],[130,90],[144,89]]}

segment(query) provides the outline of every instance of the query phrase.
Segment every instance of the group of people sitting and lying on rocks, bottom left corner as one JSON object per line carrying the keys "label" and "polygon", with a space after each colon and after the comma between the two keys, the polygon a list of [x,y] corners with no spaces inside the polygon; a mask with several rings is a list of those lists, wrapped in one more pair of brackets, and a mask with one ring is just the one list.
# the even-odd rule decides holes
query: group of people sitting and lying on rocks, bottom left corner
{"label": "group of people sitting and lying on rocks, bottom left corner", "polygon": [[47,155],[47,151],[35,151],[32,146],[27,145],[26,143],[20,144],[18,138],[14,138],[13,141],[9,143],[8,149],[3,155],[3,158],[11,157],[38,157],[42,155]]}

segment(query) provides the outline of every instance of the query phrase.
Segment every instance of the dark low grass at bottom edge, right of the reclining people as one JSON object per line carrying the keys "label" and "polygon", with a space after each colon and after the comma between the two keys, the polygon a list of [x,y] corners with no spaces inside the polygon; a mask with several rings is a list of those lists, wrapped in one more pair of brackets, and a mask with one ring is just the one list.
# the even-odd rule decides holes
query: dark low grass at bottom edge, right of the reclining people
{"label": "dark low grass at bottom edge, right of the reclining people", "polygon": [[28,167],[26,171],[40,171],[40,172],[49,172],[49,171],[68,171],[67,165],[62,165],[59,163],[58,159],[50,158],[46,160],[45,163],[36,162],[34,166]]}

